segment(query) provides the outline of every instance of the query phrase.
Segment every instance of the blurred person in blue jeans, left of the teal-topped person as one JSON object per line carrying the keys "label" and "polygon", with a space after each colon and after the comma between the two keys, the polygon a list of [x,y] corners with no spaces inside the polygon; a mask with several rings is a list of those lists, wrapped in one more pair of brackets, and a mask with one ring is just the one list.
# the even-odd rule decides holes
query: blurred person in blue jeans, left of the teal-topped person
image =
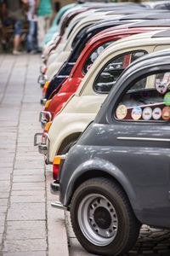
{"label": "blurred person in blue jeans, left of the teal-topped person", "polygon": [[37,53],[37,0],[28,0],[28,34],[27,34],[27,52]]}

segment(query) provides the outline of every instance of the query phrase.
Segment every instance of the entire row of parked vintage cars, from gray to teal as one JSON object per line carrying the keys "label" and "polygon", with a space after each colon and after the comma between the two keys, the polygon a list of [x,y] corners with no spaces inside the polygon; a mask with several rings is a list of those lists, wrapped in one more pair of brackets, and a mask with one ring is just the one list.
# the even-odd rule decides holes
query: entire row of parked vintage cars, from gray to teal
{"label": "entire row of parked vintage cars, from gray to teal", "polygon": [[35,145],[88,252],[170,228],[170,3],[73,3],[44,38]]}

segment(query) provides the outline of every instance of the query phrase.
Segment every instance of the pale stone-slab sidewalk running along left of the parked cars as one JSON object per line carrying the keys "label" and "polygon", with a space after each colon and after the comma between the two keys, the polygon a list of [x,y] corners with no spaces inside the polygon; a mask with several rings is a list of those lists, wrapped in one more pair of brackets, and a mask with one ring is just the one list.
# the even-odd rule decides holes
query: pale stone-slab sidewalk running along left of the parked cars
{"label": "pale stone-slab sidewalk running along left of the parked cars", "polygon": [[[64,212],[50,206],[40,132],[39,55],[0,55],[0,255],[68,255]],[[56,199],[56,197],[55,197]]]}

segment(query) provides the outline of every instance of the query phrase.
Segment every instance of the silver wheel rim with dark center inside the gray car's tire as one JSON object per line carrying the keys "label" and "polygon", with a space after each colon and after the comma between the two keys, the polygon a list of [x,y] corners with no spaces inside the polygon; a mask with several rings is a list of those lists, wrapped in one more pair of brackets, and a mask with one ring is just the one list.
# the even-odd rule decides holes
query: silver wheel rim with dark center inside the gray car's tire
{"label": "silver wheel rim with dark center inside the gray car's tire", "polygon": [[115,239],[118,227],[116,210],[105,196],[87,195],[77,213],[78,223],[88,241],[103,247]]}

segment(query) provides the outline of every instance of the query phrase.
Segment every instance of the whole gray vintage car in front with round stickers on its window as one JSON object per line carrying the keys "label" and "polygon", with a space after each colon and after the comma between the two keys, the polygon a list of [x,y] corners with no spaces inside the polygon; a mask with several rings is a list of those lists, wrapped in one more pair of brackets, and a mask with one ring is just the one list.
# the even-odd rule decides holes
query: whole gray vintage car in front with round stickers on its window
{"label": "whole gray vintage car in front with round stickers on its window", "polygon": [[[59,201],[88,252],[122,255],[141,224],[170,228],[170,50],[122,73],[61,161]],[[52,186],[53,188],[53,186]]]}

